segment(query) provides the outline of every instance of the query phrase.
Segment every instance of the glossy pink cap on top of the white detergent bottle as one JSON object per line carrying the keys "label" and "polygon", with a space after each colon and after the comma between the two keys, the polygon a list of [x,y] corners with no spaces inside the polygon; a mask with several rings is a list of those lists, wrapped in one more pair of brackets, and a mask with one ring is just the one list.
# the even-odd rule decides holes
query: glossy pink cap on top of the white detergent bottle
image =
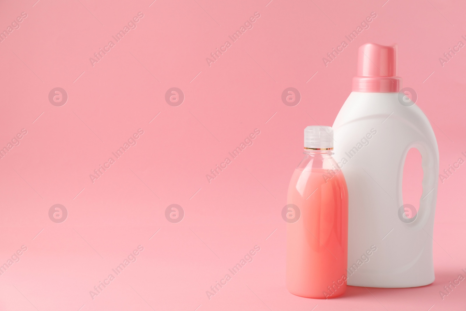
{"label": "glossy pink cap on top of the white detergent bottle", "polygon": [[398,47],[366,43],[359,47],[354,92],[396,93],[402,80],[398,74]]}

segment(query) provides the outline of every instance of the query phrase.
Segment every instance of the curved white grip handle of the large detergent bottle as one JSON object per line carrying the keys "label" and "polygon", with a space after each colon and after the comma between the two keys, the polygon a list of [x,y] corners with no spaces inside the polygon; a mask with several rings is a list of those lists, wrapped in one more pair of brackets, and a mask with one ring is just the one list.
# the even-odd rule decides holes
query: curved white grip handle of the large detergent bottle
{"label": "curved white grip handle of the large detergent bottle", "polygon": [[[422,157],[422,195],[419,199],[419,210],[416,215],[416,220],[407,223],[407,225],[413,229],[421,229],[425,226],[429,220],[431,214],[435,213],[435,205],[437,202],[437,189],[438,189],[438,174],[439,174],[439,153],[437,149],[424,142],[418,141],[411,144],[404,153],[404,159],[411,148],[418,149]],[[403,172],[403,166],[401,170]],[[403,182],[403,173],[401,173],[401,179]],[[401,193],[401,192],[400,192]],[[401,203],[403,204],[403,196],[401,196]]]}

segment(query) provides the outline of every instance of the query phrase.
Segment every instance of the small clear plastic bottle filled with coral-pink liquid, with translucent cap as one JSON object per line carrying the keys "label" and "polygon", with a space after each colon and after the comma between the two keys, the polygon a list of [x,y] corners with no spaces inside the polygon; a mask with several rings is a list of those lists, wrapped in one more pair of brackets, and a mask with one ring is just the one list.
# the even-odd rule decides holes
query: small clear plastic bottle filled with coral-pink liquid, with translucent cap
{"label": "small clear plastic bottle filled with coral-pink liquid, with translucent cap", "polygon": [[288,187],[287,288],[333,298],[346,290],[348,189],[332,158],[332,128],[308,126],[303,153]]}

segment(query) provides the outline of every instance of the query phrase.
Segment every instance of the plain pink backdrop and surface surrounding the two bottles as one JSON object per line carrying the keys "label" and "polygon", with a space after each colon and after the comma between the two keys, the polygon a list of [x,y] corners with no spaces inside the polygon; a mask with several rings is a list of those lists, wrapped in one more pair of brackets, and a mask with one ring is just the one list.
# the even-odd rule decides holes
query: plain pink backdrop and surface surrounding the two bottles
{"label": "plain pink backdrop and surface surrounding the two bottles", "polygon": [[[466,282],[439,295],[466,276],[464,165],[439,183],[436,280],[421,288],[293,296],[281,208],[304,127],[333,124],[366,42],[399,45],[399,75],[431,119],[440,170],[466,159],[466,48],[439,62],[466,43],[465,10],[459,0],[2,1],[0,30],[27,18],[0,43],[0,146],[27,135],[0,159],[0,264],[27,251],[0,276],[0,309],[464,310]],[[92,66],[138,12],[137,28]],[[254,12],[254,27],[209,67],[206,57]],[[322,57],[371,12],[370,28],[325,67]],[[48,101],[56,87],[68,93],[61,107]],[[164,100],[171,87],[185,94],[178,107]],[[288,87],[302,96],[294,107],[281,101]],[[92,183],[89,174],[140,128],[137,145]],[[206,174],[256,128],[254,144],[209,184]],[[185,211],[179,223],[164,216],[173,203]],[[49,219],[54,204],[66,221]],[[137,261],[92,299],[138,245]],[[209,300],[206,290],[254,245],[254,261]]]}

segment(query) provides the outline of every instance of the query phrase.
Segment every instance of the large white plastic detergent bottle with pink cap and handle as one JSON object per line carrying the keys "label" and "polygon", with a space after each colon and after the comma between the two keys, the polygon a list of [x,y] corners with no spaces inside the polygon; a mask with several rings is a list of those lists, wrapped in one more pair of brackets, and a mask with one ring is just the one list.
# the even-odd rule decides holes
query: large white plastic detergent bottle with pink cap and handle
{"label": "large white plastic detergent bottle with pink cap and handle", "polygon": [[[334,158],[348,185],[348,285],[427,285],[435,278],[437,141],[425,114],[400,93],[397,47],[367,43],[358,53],[353,91],[332,126]],[[404,160],[413,147],[424,172],[417,213],[403,206],[402,195]]]}

